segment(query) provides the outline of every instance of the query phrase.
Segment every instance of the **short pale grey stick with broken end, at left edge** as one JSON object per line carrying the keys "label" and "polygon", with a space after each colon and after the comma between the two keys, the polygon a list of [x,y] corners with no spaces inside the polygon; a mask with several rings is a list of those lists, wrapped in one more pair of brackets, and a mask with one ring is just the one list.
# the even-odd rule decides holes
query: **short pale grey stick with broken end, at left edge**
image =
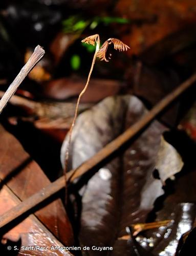
{"label": "short pale grey stick with broken end, at left edge", "polygon": [[16,78],[10,84],[8,90],[5,92],[4,96],[0,100],[0,114],[2,113],[3,109],[7,105],[8,101],[12,97],[12,95],[16,92],[17,88],[19,87],[20,83],[23,82],[25,77],[28,73],[33,69],[33,67],[37,64],[37,62],[43,57],[45,54],[45,50],[39,45],[35,48],[33,54],[25,64],[25,66],[20,70]]}

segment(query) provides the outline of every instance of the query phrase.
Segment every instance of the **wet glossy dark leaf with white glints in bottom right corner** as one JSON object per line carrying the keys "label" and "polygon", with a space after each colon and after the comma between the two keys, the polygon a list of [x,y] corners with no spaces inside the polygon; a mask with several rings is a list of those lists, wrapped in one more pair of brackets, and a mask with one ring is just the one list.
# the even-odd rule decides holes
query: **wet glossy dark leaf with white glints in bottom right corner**
{"label": "wet glossy dark leaf with white glints in bottom right corner", "polygon": [[143,232],[136,241],[153,255],[176,255],[179,240],[184,233],[191,230],[195,214],[196,207],[193,203],[165,203],[163,209],[157,213],[157,221],[169,218],[171,222]]}

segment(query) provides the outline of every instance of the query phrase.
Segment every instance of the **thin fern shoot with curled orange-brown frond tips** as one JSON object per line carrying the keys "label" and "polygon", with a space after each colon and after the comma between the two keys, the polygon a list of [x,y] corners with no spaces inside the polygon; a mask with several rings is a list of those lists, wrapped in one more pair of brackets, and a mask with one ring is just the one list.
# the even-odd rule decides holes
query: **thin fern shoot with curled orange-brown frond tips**
{"label": "thin fern shoot with curled orange-brown frond tips", "polygon": [[[120,41],[119,39],[116,39],[116,38],[107,39],[104,42],[104,44],[101,46],[101,48],[99,48],[100,47],[100,38],[99,38],[98,34],[88,36],[88,37],[84,38],[82,40],[82,42],[85,42],[85,44],[90,44],[90,45],[93,45],[93,46],[96,43],[96,50],[95,50],[95,54],[94,54],[94,57],[93,57],[93,60],[92,60],[92,65],[91,65],[91,69],[90,69],[90,72],[89,72],[89,75],[88,75],[88,79],[86,81],[86,84],[85,84],[83,90],[81,91],[81,93],[78,96],[78,100],[77,100],[77,103],[76,103],[75,114],[74,114],[74,119],[73,119],[72,125],[70,127],[70,131],[69,131],[69,134],[68,134],[68,146],[67,146],[67,150],[66,150],[66,157],[65,157],[65,163],[64,163],[65,179],[66,179],[66,174],[67,174],[67,171],[68,171],[69,150],[70,150],[70,144],[71,144],[71,139],[72,139],[72,132],[73,132],[74,125],[75,125],[76,118],[77,118],[77,114],[78,114],[78,107],[79,107],[80,99],[81,99],[82,95],[85,93],[85,91],[87,90],[87,88],[89,86],[89,81],[90,81],[91,74],[92,74],[92,71],[93,71],[93,68],[94,68],[94,65],[95,65],[96,58],[99,57],[101,60],[105,60],[106,62],[108,62],[108,60],[106,59],[106,51],[107,51],[108,45],[111,45],[111,44],[114,44],[114,49],[115,50],[127,51],[127,49],[129,49],[129,47],[127,45],[123,44],[122,41]],[[110,54],[110,56],[111,56],[111,54]],[[67,188],[67,179],[66,179],[66,184],[65,185],[66,185],[66,188]],[[67,202],[67,193],[66,193],[66,202]]]}

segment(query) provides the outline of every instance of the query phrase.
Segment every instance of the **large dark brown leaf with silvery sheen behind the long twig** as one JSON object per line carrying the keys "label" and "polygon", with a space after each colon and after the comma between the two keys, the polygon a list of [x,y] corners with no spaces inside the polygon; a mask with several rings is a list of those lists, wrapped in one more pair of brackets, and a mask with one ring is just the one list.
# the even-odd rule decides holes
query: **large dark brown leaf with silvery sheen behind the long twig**
{"label": "large dark brown leaf with silvery sheen behind the long twig", "polygon": [[[146,112],[138,98],[118,96],[106,98],[82,113],[73,132],[70,167],[76,168],[89,159]],[[135,255],[134,247],[118,238],[125,234],[126,226],[145,222],[155,199],[163,194],[161,180],[153,177],[155,167],[159,166],[164,182],[183,165],[171,145],[164,142],[160,147],[165,130],[158,121],[151,123],[138,139],[129,142],[127,150],[100,168],[83,187],[79,236],[82,245],[113,246],[113,251],[107,251],[109,254]],[[67,140],[62,146],[62,163],[66,147]],[[173,157],[168,158],[171,152]],[[172,166],[168,159],[173,161]],[[99,255],[100,251],[91,250],[89,254]]]}

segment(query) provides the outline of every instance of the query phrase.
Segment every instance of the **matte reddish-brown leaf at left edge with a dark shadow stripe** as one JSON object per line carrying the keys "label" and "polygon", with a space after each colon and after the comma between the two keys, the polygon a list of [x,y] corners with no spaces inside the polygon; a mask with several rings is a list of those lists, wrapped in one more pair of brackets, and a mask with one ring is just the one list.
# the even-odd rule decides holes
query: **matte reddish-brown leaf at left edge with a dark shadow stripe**
{"label": "matte reddish-brown leaf at left edge with a dark shadow stripe", "polygon": [[[25,200],[50,184],[38,164],[3,126],[0,126],[0,140],[2,184],[6,183],[20,200]],[[60,199],[39,209],[35,215],[62,243],[66,245],[74,243],[72,227]]]}

